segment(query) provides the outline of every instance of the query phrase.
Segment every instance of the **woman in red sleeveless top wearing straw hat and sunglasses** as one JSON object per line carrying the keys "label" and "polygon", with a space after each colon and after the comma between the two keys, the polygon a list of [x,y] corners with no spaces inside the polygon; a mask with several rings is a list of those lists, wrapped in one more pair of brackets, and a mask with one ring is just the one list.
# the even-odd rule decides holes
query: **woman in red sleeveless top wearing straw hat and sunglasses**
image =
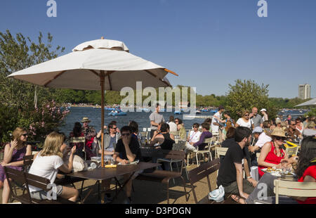
{"label": "woman in red sleeveless top wearing straw hat and sunglasses", "polygon": [[259,177],[262,177],[263,174],[265,174],[261,169],[268,167],[276,167],[281,169],[281,162],[283,160],[292,163],[289,160],[287,152],[282,148],[283,141],[286,139],[284,130],[276,127],[273,129],[271,136],[272,141],[269,141],[263,145],[258,158]]}

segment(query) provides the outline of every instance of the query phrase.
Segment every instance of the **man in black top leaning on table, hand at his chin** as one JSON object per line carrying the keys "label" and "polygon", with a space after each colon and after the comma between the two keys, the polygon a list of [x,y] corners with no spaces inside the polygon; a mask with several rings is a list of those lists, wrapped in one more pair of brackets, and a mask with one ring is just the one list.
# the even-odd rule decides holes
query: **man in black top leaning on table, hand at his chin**
{"label": "man in black top leaning on table, hand at his chin", "polygon": [[[117,141],[117,146],[114,150],[113,159],[115,162],[120,162],[121,165],[129,164],[130,162],[140,160],[140,145],[135,137],[132,137],[133,129],[129,126],[121,128],[121,139]],[[126,184],[126,200],[124,203],[131,203],[131,188],[133,179],[138,177],[141,172],[135,172],[133,177]],[[124,181],[129,179],[131,174],[124,174]]]}

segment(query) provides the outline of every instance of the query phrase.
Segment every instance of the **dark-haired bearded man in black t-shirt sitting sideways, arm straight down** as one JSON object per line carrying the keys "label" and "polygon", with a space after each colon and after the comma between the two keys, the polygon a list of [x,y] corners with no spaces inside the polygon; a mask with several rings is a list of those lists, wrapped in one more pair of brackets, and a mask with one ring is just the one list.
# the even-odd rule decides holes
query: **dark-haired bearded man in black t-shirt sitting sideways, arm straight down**
{"label": "dark-haired bearded man in black t-shirt sitting sideways, arm straight down", "polygon": [[[235,131],[235,143],[232,143],[220,164],[217,177],[217,185],[223,185],[225,193],[240,195],[248,198],[248,194],[254,191],[257,181],[250,177],[249,165],[246,160],[246,149],[251,140],[251,130],[247,127],[237,127]],[[247,179],[243,179],[242,161],[244,160],[244,172]]]}

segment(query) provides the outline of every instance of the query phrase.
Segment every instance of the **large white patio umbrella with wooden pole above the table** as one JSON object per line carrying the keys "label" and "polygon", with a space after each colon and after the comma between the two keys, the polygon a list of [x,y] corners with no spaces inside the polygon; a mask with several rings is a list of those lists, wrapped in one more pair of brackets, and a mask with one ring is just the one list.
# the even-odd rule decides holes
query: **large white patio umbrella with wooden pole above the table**
{"label": "large white patio umbrella with wooden pole above the table", "polygon": [[175,72],[129,53],[121,41],[98,39],[72,49],[72,53],[14,72],[8,77],[39,86],[101,90],[102,166],[104,167],[104,90],[120,91],[136,82],[154,88],[171,86],[165,76]]}

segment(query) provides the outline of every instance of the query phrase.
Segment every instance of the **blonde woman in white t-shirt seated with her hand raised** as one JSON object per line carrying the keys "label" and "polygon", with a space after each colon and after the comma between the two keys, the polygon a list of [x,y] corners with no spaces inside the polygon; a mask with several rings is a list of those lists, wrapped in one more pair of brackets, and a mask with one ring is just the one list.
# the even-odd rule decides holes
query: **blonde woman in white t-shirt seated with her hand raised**
{"label": "blonde woman in white t-shirt seated with her hand raised", "polygon": [[[67,162],[66,165],[62,160],[63,151],[65,149],[64,139],[65,137],[57,132],[49,134],[46,137],[43,150],[37,153],[34,157],[34,162],[29,169],[29,174],[49,179],[51,184],[53,184],[56,179],[58,169],[66,174],[72,172],[72,162],[74,160],[76,146],[72,147],[69,162]],[[69,188],[66,186],[57,186],[56,191],[57,196],[73,202],[76,202],[79,195],[76,188]],[[46,191],[40,188],[29,186],[29,192],[31,198],[35,198],[37,200],[45,200],[47,198]]]}

